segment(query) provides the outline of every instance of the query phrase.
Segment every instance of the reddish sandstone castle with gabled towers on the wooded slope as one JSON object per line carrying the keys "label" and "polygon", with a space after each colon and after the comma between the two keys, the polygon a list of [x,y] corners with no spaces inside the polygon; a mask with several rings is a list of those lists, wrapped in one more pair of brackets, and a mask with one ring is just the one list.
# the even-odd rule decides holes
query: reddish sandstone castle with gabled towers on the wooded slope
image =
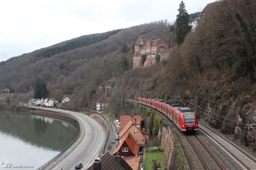
{"label": "reddish sandstone castle with gabled towers on the wooded slope", "polygon": [[[168,57],[168,43],[163,39],[146,40],[139,37],[134,45],[135,54],[133,55],[133,69],[146,68],[156,64],[157,56],[160,62]],[[142,63],[142,56],[146,55],[146,60]]]}

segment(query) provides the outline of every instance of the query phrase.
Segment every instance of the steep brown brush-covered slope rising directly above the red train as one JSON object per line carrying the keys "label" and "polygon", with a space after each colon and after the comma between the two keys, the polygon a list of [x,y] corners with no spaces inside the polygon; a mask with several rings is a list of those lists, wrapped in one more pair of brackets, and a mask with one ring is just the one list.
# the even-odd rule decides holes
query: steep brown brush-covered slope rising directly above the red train
{"label": "steep brown brush-covered slope rising directly above the red train", "polygon": [[[209,4],[203,22],[176,46],[166,65],[125,72],[120,86],[179,102],[200,120],[256,151],[255,1]],[[130,90],[132,89],[132,90]]]}

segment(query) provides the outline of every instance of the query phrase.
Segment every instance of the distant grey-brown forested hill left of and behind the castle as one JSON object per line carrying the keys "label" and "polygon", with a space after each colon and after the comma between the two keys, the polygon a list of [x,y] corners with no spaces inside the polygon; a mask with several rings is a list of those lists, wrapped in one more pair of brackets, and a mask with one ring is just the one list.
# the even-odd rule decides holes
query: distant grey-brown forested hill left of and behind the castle
{"label": "distant grey-brown forested hill left of and behind the castle", "polygon": [[[138,37],[164,37],[168,41],[168,34],[166,22],[152,22],[81,36],[14,57],[0,64],[0,89],[26,93],[33,91],[37,78],[40,78],[47,86],[61,86],[59,95],[54,96],[57,99],[86,86],[93,91],[95,85],[132,68],[133,44]],[[123,47],[126,48],[122,53]]]}

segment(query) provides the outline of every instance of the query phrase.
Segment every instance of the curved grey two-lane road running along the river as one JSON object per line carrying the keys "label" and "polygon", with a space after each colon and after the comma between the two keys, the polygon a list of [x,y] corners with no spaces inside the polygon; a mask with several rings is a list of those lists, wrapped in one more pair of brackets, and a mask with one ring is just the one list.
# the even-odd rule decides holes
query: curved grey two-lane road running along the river
{"label": "curved grey two-lane road running along the river", "polygon": [[[30,107],[36,109],[57,111],[67,113],[66,110]],[[88,115],[84,115],[77,112],[68,111],[69,114],[75,116],[79,120],[81,134],[77,140],[79,143],[66,157],[60,162],[53,161],[44,169],[75,169],[75,164],[81,162],[83,167],[81,169],[86,170],[97,157],[101,154],[101,149],[104,147],[105,131],[102,126]],[[52,167],[53,166],[53,167]]]}

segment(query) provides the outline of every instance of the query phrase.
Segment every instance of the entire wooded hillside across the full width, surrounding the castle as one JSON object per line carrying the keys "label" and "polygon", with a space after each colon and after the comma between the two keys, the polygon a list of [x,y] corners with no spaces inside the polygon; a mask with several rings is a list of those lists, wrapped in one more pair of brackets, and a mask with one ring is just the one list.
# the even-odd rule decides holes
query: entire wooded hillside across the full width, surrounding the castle
{"label": "entire wooded hillside across the full width, surrounding the castle", "polygon": [[[209,4],[179,46],[175,29],[161,21],[61,42],[0,64],[0,89],[31,94],[40,78],[49,96],[71,95],[69,109],[93,109],[104,95],[116,116],[129,114],[124,99],[166,97],[256,151],[255,11],[255,0]],[[169,41],[167,62],[133,70],[134,43],[141,36]]]}

